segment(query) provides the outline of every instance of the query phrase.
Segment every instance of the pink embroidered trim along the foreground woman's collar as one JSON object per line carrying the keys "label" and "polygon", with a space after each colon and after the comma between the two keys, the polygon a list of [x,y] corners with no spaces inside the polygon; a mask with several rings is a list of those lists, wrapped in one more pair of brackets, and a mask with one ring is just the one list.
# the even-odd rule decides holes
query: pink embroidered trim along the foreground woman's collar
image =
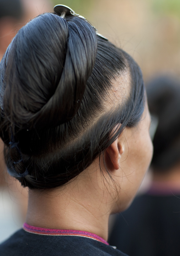
{"label": "pink embroidered trim along the foreground woman's collar", "polygon": [[49,235],[49,236],[84,236],[96,241],[102,242],[106,245],[109,245],[102,237],[97,236],[95,234],[79,231],[79,230],[64,230],[64,229],[44,229],[37,228],[24,223],[23,229],[29,233],[39,234],[39,235]]}

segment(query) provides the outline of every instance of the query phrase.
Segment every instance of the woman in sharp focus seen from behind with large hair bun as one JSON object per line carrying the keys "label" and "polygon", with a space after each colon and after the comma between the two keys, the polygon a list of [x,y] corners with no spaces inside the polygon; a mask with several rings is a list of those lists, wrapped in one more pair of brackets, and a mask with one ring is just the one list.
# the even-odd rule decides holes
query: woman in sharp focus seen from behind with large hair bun
{"label": "woman in sharp focus seen from behind with large hair bun", "polygon": [[1,255],[124,255],[106,242],[108,218],[152,156],[140,68],[59,5],[19,30],[0,74],[6,164],[29,188],[24,228]]}

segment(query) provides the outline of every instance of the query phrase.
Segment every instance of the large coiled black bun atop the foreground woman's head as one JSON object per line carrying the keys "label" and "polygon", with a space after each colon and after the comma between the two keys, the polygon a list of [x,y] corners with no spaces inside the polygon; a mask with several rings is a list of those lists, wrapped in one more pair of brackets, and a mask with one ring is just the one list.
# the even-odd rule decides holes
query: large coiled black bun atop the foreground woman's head
{"label": "large coiled black bun atop the foreground woman's head", "polygon": [[0,70],[0,105],[10,124],[41,129],[71,120],[94,67],[94,28],[79,17],[45,13],[21,28],[11,44],[4,56],[8,67],[4,61]]}

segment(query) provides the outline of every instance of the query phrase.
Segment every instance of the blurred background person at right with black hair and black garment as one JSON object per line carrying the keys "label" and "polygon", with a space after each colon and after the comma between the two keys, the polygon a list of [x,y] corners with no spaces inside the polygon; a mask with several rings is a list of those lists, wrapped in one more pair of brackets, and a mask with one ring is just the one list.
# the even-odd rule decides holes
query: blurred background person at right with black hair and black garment
{"label": "blurred background person at right with black hair and black garment", "polygon": [[117,216],[108,242],[129,256],[179,256],[180,81],[153,79],[147,98],[154,130],[152,184]]}

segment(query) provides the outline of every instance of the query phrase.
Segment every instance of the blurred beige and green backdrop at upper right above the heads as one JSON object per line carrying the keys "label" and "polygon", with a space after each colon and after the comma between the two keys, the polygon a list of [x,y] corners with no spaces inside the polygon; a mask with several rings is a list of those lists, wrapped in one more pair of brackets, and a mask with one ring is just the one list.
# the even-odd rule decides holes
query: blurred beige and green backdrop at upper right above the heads
{"label": "blurred beige and green backdrop at upper right above the heads", "polygon": [[145,80],[159,73],[179,75],[179,0],[61,0],[61,4],[85,16],[99,33],[128,52]]}

